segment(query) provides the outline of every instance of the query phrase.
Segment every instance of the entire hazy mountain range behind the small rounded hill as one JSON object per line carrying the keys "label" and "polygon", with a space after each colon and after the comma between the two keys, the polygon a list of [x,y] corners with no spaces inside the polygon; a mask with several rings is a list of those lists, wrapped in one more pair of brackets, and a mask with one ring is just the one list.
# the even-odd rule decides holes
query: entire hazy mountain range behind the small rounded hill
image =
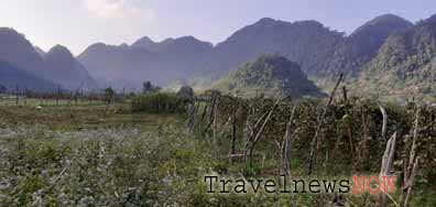
{"label": "entire hazy mountain range behind the small rounded hill", "polygon": [[[92,44],[77,59],[66,47],[55,46],[46,53],[18,32],[1,29],[0,61],[21,74],[37,76],[48,85],[62,84],[67,89],[140,89],[145,80],[165,86],[203,78],[210,86],[247,62],[279,54],[298,64],[320,87],[344,73],[357,87],[388,85],[425,94],[435,92],[428,86],[435,79],[435,19],[414,24],[384,14],[346,35],[314,20],[285,22],[264,18],[217,45],[193,36],[162,42],[144,36],[131,45]],[[385,88],[385,92],[390,89]]]}

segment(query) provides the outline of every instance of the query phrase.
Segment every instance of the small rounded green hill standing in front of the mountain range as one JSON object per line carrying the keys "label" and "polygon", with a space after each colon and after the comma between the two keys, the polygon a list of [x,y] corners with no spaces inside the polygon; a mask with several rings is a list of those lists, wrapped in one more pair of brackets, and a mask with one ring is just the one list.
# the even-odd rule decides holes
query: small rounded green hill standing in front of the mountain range
{"label": "small rounded green hill standing in front of the mountain range", "polygon": [[215,88],[241,96],[323,96],[323,92],[307,79],[298,64],[280,55],[263,55],[247,63],[230,76],[222,78]]}

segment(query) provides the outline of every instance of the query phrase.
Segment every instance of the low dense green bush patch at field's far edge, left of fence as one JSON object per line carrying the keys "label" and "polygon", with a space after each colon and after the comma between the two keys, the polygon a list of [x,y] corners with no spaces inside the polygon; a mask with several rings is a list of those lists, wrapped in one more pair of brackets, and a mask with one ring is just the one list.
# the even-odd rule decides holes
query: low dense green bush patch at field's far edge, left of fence
{"label": "low dense green bush patch at field's far edge, left of fence", "polygon": [[153,92],[140,95],[132,99],[133,112],[167,112],[184,113],[187,109],[188,100],[176,94]]}

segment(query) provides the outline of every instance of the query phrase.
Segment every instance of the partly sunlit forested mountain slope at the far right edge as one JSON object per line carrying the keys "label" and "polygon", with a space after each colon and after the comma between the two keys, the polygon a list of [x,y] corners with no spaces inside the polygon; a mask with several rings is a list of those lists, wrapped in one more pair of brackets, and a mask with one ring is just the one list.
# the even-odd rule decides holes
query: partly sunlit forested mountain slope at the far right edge
{"label": "partly sunlit forested mountain slope at the far right edge", "polygon": [[436,94],[436,15],[392,34],[359,78],[362,94],[428,98]]}

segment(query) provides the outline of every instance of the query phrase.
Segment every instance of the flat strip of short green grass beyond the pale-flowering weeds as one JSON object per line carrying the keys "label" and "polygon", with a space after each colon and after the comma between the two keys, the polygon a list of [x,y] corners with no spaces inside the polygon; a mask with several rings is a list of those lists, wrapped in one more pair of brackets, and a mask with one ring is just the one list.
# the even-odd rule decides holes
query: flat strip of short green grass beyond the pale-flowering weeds
{"label": "flat strip of short green grass beyond the pale-flowering weeds", "polygon": [[153,130],[160,126],[179,126],[183,121],[181,117],[174,115],[131,113],[129,107],[126,103],[118,103],[110,106],[108,111],[105,105],[0,107],[0,127],[40,126],[62,131],[124,127]]}

